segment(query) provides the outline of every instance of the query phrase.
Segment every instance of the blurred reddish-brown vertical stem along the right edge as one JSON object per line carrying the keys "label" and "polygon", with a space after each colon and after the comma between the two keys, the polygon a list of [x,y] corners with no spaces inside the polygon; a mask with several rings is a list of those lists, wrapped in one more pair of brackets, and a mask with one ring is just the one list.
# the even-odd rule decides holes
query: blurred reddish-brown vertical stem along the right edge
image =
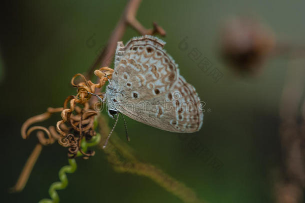
{"label": "blurred reddish-brown vertical stem along the right edge", "polygon": [[[294,62],[294,63],[292,63]],[[276,183],[276,202],[298,203],[303,201],[305,187],[305,154],[301,126],[297,123],[301,95],[304,92],[304,63],[291,61],[279,106],[283,169]]]}

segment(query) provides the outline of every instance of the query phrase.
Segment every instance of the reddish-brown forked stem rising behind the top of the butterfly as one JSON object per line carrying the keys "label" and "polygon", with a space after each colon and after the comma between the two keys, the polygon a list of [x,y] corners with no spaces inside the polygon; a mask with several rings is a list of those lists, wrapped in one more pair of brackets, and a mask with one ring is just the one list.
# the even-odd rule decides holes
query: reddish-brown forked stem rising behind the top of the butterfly
{"label": "reddish-brown forked stem rising behind the top of the butterfly", "polygon": [[98,55],[95,62],[87,71],[86,78],[91,77],[93,71],[99,66],[109,66],[112,58],[114,56],[116,43],[121,40],[124,35],[124,32],[128,25],[134,28],[140,35],[152,35],[155,33],[159,33],[161,36],[165,36],[165,31],[159,27],[156,23],[153,23],[153,29],[148,30],[145,29],[135,18],[136,12],[138,10],[139,4],[141,0],[129,0],[127,3],[125,10],[118,21],[115,29],[113,30],[110,38],[107,42],[106,47],[102,50],[102,52]]}

